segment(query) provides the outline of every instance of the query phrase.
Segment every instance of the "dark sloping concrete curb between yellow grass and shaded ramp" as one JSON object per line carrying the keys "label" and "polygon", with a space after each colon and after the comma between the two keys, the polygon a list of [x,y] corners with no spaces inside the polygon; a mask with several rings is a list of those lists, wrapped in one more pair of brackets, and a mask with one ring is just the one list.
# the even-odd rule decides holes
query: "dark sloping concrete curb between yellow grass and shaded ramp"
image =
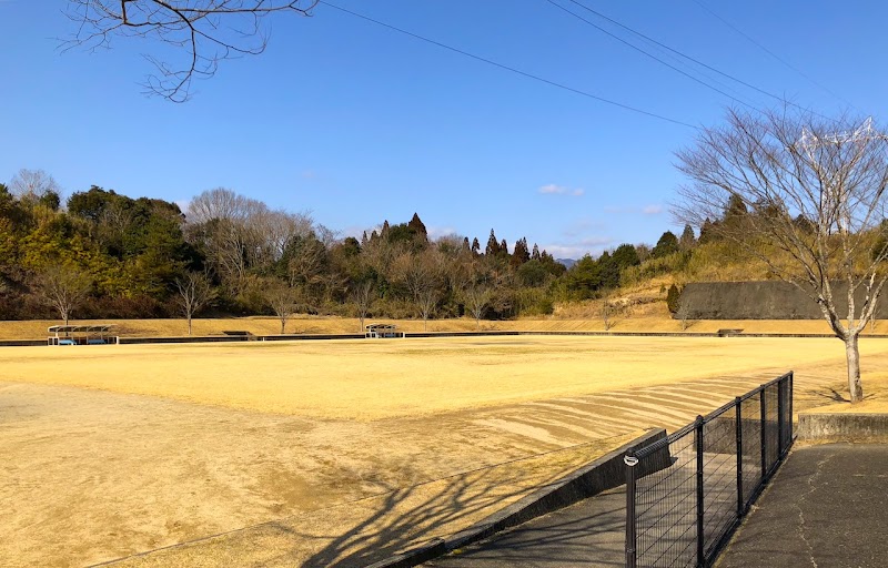
{"label": "dark sloping concrete curb between yellow grass and shaded ramp", "polygon": [[[474,526],[447,538],[435,538],[420,547],[398,552],[366,568],[410,568],[463,548],[496,532],[515,527],[536,517],[562,509],[626,481],[623,457],[630,449],[648,446],[666,437],[665,429],[648,433],[605,454],[568,476],[494,513]],[[668,463],[666,460],[665,463]]]}

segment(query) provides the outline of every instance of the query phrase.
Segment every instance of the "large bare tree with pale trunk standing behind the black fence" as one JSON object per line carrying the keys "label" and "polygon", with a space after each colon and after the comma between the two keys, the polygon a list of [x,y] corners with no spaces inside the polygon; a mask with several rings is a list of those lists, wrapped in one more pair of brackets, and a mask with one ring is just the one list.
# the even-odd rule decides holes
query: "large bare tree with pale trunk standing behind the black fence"
{"label": "large bare tree with pale trunk standing behind the black fence", "polygon": [[[704,130],[677,155],[693,183],[680,189],[675,216],[700,226],[728,202],[743,203],[740,222],[714,231],[817,303],[845,343],[851,400],[862,399],[858,336],[874,316],[888,258],[885,244],[874,250],[886,231],[888,136],[870,120],[730,111],[727,124]],[[847,286],[845,297],[836,283]]]}

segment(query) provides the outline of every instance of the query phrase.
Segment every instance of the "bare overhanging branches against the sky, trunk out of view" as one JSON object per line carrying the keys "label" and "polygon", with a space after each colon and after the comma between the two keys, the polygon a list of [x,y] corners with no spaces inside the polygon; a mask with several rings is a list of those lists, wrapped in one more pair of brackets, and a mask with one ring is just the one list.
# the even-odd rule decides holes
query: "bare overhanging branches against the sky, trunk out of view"
{"label": "bare overhanging branches against the sky, trunk out of view", "polygon": [[67,16],[77,31],[65,49],[108,48],[114,37],[151,40],[181,53],[174,62],[145,54],[157,72],[149,93],[174,102],[189,99],[195,77],[212,77],[219,62],[262,53],[263,19],[281,12],[310,16],[317,0],[69,0]]}

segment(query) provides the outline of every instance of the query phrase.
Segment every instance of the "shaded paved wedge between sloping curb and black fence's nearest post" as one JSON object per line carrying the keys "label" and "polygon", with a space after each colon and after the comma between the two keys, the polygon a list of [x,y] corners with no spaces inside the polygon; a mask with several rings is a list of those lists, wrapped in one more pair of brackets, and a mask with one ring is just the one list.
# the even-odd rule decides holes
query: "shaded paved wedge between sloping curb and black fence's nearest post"
{"label": "shaded paved wedge between sloping curb and black fence's nearest post", "polygon": [[437,568],[625,566],[626,493],[612,489],[427,562]]}

